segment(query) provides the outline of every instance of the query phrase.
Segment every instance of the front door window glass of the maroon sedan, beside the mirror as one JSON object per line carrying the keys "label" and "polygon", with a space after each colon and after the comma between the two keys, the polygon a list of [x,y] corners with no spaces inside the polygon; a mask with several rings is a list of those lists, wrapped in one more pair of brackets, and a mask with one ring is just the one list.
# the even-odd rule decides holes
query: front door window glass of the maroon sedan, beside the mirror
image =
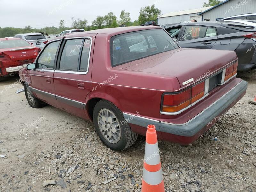
{"label": "front door window glass of the maroon sedan, beside the mirror", "polygon": [[55,41],[47,45],[38,58],[37,68],[53,69],[54,60],[60,41]]}

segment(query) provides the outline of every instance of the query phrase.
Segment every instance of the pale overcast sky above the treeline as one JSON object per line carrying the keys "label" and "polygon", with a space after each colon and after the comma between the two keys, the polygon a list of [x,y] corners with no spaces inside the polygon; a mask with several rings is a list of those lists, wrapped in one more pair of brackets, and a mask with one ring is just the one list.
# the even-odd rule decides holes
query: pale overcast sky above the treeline
{"label": "pale overcast sky above the treeline", "polygon": [[60,20],[71,26],[71,17],[86,19],[91,24],[97,15],[113,12],[119,19],[121,10],[131,13],[132,21],[138,20],[141,7],[155,4],[165,14],[167,12],[196,9],[205,0],[0,0],[0,27],[33,28],[59,26]]}

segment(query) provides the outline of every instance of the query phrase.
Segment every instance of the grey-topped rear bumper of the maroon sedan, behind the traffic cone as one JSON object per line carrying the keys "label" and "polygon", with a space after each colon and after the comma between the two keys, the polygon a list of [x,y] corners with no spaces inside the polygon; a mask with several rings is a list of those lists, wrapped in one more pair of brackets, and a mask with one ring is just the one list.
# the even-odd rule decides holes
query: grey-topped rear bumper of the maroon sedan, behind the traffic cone
{"label": "grey-topped rear bumper of the maroon sedan, behind the traffic cone", "polygon": [[147,127],[149,124],[154,124],[156,130],[162,132],[163,140],[188,145],[207,131],[212,124],[220,119],[220,115],[226,113],[244,96],[247,84],[246,81],[242,80],[220,97],[220,99],[216,100],[212,105],[184,124],[173,124],[138,116],[132,117],[132,115],[127,113],[124,113],[124,117],[129,123],[139,125],[140,127]]}

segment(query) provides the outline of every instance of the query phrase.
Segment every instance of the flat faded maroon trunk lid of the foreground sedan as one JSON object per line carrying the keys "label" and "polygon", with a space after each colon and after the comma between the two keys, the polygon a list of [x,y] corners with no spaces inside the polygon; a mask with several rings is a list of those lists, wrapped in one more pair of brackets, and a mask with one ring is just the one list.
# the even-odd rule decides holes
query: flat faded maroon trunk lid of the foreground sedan
{"label": "flat faded maroon trunk lid of the foreground sedan", "polygon": [[180,48],[120,66],[124,70],[174,76],[185,88],[185,82],[201,81],[236,59],[234,51]]}

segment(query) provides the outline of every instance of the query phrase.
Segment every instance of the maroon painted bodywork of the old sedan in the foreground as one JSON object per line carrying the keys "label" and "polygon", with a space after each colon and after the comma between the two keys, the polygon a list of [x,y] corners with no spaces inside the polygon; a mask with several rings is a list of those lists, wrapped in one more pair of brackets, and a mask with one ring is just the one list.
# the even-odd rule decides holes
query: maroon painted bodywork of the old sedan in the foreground
{"label": "maroon painted bodywork of the old sedan in the foreground", "polygon": [[[242,82],[241,79],[233,76],[225,85],[215,87],[209,92],[209,96],[180,114],[160,114],[163,93],[179,92],[186,89],[187,85],[183,85],[183,82],[192,78],[195,81],[191,82],[189,86],[203,81],[209,76],[225,70],[230,63],[237,60],[237,56],[232,51],[179,48],[112,67],[109,43],[111,37],[147,29],[161,28],[155,26],[109,28],[59,38],[85,36],[92,38],[90,64],[86,75],[27,69],[20,70],[19,75],[30,87],[69,100],[86,103],[84,110],[57,101],[54,97],[49,98],[44,94],[34,92],[34,95],[40,100],[84,119],[92,120],[92,100],[105,99],[115,104],[123,113],[138,114],[142,119],[178,125],[186,125],[204,110],[211,109],[214,103],[225,95],[231,94],[232,90]],[[117,76],[116,80],[114,76]],[[112,80],[108,81],[109,78]],[[79,88],[79,84],[82,84],[82,89]],[[235,105],[245,92],[244,88],[236,100],[217,115],[223,114]],[[161,131],[160,128],[157,131],[158,138],[188,145],[216,121],[215,118],[211,120],[209,124],[192,136],[170,134]],[[146,126],[139,126],[131,122],[129,124],[134,132],[145,135]]]}

